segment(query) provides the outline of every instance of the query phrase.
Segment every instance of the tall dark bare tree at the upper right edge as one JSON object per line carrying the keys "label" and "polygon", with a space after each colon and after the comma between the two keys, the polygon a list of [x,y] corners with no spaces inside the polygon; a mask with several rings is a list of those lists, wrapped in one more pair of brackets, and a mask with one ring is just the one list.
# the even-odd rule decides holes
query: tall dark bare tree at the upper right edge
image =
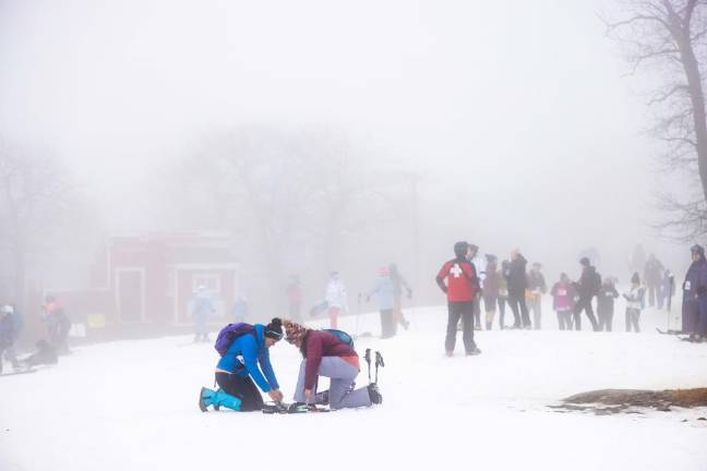
{"label": "tall dark bare tree at the upper right edge", "polygon": [[624,0],[608,22],[608,35],[622,44],[632,72],[656,80],[648,105],[663,143],[662,167],[683,172],[693,186],[684,194],[659,194],[668,217],[660,229],[690,240],[707,233],[707,116],[702,68],[707,59],[707,2]]}

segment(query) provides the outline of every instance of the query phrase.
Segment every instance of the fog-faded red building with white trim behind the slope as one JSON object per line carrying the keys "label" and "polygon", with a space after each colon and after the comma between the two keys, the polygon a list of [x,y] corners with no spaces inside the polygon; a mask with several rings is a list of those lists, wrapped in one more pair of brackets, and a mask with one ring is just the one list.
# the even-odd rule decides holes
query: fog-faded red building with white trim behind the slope
{"label": "fog-faded red building with white trim behind the slope", "polygon": [[50,291],[74,319],[91,327],[125,323],[191,324],[199,286],[212,297],[215,324],[230,317],[241,292],[235,242],[224,233],[111,237],[95,263],[92,286]]}

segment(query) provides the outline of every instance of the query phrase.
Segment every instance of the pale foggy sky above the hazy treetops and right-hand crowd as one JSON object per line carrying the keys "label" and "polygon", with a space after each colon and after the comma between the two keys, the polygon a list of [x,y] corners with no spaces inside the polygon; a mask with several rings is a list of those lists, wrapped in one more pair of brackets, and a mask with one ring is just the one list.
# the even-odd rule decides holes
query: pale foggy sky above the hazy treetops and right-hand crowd
{"label": "pale foggy sky above the hazy treetops and right-hand crowd", "polygon": [[636,241],[682,261],[646,225],[644,84],[607,4],[1,0],[0,130],[55,149],[113,230],[155,229],[151,179],[205,133],[326,125],[420,176],[434,256],[520,246],[551,278],[590,245],[616,271]]}

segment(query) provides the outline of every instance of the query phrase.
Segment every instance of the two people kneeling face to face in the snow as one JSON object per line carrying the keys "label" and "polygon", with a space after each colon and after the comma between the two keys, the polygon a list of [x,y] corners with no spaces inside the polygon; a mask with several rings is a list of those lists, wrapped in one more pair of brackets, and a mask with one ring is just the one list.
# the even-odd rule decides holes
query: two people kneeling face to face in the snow
{"label": "two people kneeling face to face in the snow", "polygon": [[[269,349],[283,338],[302,355],[293,394],[296,403],[345,409],[383,401],[375,383],[356,388],[360,359],[345,333],[316,330],[290,319],[273,318],[267,325],[230,324],[221,330],[216,341],[221,354],[215,369],[218,389],[201,389],[200,409],[262,410],[265,403],[260,391],[274,402],[281,402],[285,395],[271,363]],[[329,378],[328,390],[319,390],[321,376]]]}

